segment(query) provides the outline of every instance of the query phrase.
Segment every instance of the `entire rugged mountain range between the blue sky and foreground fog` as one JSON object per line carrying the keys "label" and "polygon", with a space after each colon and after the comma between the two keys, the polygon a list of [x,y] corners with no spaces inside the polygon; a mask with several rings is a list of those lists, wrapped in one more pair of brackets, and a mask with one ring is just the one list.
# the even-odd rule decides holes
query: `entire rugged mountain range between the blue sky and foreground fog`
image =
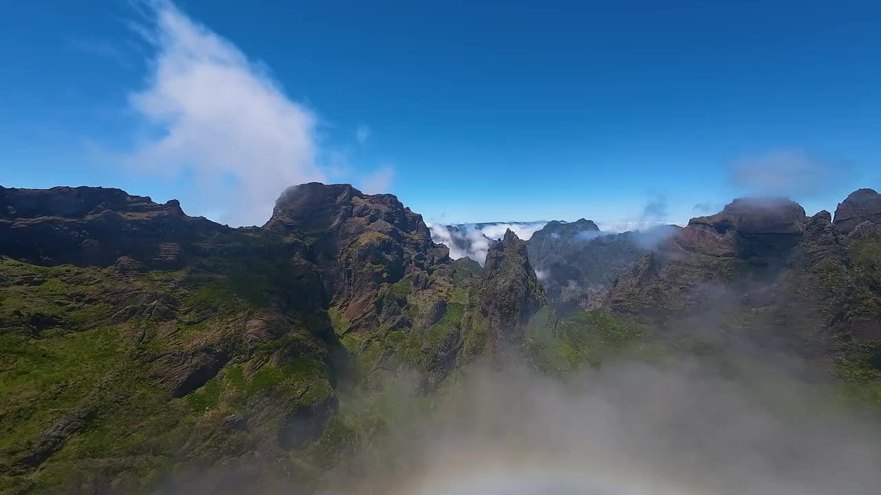
{"label": "entire rugged mountain range between the blue sky and foreground fog", "polygon": [[[803,359],[881,403],[881,196],[736,200],[685,227],[508,231],[451,260],[395,196],[302,184],[230,228],[112,188],[0,187],[0,491],[217,492],[358,471],[388,384],[564,379],[620,356]],[[722,366],[722,365],[720,365]]]}

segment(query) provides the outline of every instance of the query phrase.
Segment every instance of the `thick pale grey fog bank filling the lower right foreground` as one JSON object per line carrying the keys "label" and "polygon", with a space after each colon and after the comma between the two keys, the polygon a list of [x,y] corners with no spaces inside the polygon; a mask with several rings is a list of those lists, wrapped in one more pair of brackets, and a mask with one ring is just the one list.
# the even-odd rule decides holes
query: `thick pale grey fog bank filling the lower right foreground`
{"label": "thick pale grey fog bank filling the lower right foreground", "polygon": [[796,380],[803,370],[791,363],[737,378],[714,367],[619,362],[564,384],[483,366],[430,415],[392,425],[355,461],[365,479],[328,476],[322,492],[877,493],[881,430],[870,414]]}

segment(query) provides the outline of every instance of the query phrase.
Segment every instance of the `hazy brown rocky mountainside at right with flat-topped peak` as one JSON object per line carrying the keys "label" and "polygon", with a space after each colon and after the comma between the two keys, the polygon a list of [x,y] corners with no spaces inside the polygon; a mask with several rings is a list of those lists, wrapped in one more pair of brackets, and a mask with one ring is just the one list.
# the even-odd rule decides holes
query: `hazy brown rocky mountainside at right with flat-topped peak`
{"label": "hazy brown rocky mountainside at right with flat-topped peak", "polygon": [[[848,208],[846,230],[870,218]],[[827,211],[807,218],[788,200],[736,200],[640,256],[605,305],[671,338],[770,347],[821,367],[831,359],[834,373],[874,369],[877,233],[865,224],[856,231],[866,240],[854,240],[830,220]]]}

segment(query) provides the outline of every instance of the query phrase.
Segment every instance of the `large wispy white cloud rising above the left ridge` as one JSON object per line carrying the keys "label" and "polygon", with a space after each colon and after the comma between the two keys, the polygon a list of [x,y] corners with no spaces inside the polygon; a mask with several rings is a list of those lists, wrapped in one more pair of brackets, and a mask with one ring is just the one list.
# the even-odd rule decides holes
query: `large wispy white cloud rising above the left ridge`
{"label": "large wispy white cloud rising above the left ridge", "polygon": [[232,225],[262,224],[285,187],[322,181],[315,115],[232,42],[174,4],[150,6],[152,24],[143,33],[155,58],[130,102],[153,137],[130,162],[192,174],[204,188],[203,209],[224,211],[218,219]]}

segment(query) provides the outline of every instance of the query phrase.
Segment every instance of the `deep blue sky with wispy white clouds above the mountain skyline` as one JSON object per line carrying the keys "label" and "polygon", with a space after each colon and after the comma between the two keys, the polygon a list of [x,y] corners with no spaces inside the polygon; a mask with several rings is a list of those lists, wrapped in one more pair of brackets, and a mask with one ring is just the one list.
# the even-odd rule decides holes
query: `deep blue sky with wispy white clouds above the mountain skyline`
{"label": "deep blue sky with wispy white clouds above the mountain skyline", "polygon": [[881,187],[877,3],[2,9],[6,187],[119,187],[233,225],[306,180],[450,223],[683,222],[760,194],[813,213]]}

